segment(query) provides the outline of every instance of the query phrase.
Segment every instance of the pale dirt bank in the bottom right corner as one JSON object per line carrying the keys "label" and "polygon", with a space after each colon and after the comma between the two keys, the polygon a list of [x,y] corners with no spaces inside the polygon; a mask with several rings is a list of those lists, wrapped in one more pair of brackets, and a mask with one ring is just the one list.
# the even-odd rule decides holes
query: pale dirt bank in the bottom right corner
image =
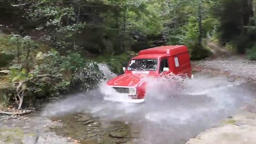
{"label": "pale dirt bank in the bottom right corner", "polygon": [[256,114],[241,110],[223,121],[218,127],[206,130],[190,139],[187,144],[242,144],[256,143]]}

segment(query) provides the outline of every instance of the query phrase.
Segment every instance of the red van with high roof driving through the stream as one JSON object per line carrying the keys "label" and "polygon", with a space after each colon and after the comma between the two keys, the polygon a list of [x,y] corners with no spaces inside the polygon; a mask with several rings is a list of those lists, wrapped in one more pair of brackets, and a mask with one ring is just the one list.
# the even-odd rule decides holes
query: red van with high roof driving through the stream
{"label": "red van with high roof driving through the stream", "polygon": [[[162,77],[170,73],[191,78],[189,52],[185,45],[167,45],[142,50],[123,68],[125,73],[107,82],[116,92],[127,94],[131,102],[143,102],[146,83],[143,77]],[[171,85],[170,85],[171,86]]]}

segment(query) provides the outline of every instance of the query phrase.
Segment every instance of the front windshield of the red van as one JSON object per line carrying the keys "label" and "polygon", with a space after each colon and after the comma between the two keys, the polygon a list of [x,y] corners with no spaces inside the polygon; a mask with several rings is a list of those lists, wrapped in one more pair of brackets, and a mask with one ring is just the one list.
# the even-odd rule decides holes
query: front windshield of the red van
{"label": "front windshield of the red van", "polygon": [[157,59],[133,59],[127,70],[150,70],[157,69]]}

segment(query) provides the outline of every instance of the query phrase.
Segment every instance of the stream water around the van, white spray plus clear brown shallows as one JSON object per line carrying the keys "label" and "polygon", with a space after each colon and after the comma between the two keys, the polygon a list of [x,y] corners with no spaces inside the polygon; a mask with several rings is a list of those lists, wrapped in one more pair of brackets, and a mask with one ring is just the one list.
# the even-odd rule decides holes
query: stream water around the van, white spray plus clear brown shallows
{"label": "stream water around the van, white spray plus clear brown shallows", "polygon": [[[108,78],[115,76],[106,66],[100,68]],[[76,139],[95,138],[101,143],[186,143],[253,100],[247,83],[229,82],[222,76],[197,73],[194,79],[183,83],[185,90],[175,94],[161,82],[150,81],[144,103],[103,100],[103,82],[100,89],[49,103],[41,115],[61,119],[65,125],[52,130]],[[83,117],[87,121],[77,122]]]}

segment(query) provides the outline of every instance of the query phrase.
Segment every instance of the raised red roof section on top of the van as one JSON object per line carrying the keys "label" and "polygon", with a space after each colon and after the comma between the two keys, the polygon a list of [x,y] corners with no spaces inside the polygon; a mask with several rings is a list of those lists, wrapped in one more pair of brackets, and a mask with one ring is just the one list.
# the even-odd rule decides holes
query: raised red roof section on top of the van
{"label": "raised red roof section on top of the van", "polygon": [[185,45],[166,45],[141,50],[139,55],[158,55],[158,57],[161,57],[161,55],[173,56],[185,52],[188,52],[187,46]]}

